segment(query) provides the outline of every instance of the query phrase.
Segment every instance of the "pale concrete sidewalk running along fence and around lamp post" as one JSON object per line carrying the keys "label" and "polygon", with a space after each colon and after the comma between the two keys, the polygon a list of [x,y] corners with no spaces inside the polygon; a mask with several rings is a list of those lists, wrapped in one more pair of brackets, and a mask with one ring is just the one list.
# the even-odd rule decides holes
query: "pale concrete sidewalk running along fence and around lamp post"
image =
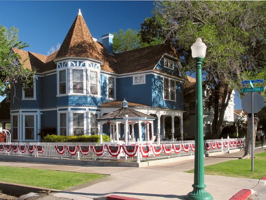
{"label": "pale concrete sidewalk running along fence and around lamp post", "polygon": [[[255,153],[266,148],[255,149]],[[244,152],[205,157],[204,164],[210,165],[238,159]],[[193,190],[194,175],[184,171],[194,169],[194,159],[183,160],[145,168],[125,168],[107,166],[70,166],[42,163],[0,162],[0,165],[25,168],[50,169],[60,171],[108,174],[110,176],[65,191],[52,193],[56,197],[70,199],[105,199],[111,194],[139,199],[185,199]],[[214,199],[230,199],[242,189],[265,190],[264,182],[255,179],[232,178],[205,175],[205,190]],[[255,198],[253,198],[255,199]],[[259,198],[257,198],[259,199]],[[263,198],[261,198],[263,199]]]}

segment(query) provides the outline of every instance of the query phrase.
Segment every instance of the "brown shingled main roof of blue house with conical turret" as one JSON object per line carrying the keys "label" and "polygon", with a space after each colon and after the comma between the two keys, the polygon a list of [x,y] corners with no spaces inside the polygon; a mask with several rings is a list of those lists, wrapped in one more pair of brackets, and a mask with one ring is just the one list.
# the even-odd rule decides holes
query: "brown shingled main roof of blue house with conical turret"
{"label": "brown shingled main roof of blue house with conical turret", "polygon": [[81,12],[67,32],[60,49],[53,54],[46,56],[18,49],[13,49],[13,51],[21,55],[21,62],[29,58],[25,66],[29,69],[34,67],[40,73],[56,69],[55,61],[68,57],[99,61],[102,71],[116,74],[155,70],[156,64],[163,55],[170,55],[179,59],[175,49],[170,44],[110,55],[101,44],[93,40]]}

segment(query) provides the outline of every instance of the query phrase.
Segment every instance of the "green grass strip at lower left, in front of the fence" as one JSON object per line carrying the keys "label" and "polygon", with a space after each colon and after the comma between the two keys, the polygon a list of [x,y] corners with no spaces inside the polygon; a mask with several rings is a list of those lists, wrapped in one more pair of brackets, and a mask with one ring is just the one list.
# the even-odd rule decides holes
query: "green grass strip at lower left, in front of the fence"
{"label": "green grass strip at lower left, in front of the fence", "polygon": [[0,166],[1,182],[64,190],[106,175]]}

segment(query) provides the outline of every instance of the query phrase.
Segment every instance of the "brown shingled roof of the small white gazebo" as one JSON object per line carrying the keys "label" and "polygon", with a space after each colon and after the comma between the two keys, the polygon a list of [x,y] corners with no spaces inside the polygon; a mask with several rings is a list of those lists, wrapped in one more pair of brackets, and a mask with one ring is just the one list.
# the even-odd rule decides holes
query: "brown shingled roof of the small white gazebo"
{"label": "brown shingled roof of the small white gazebo", "polygon": [[136,117],[139,119],[149,119],[149,120],[154,120],[156,119],[156,117],[151,116],[151,115],[147,115],[145,113],[141,113],[139,111],[135,111],[131,108],[128,107],[122,107],[116,111],[113,111],[111,113],[108,113],[106,115],[103,115],[101,117],[98,117],[97,120],[101,121],[101,120],[118,120],[118,119],[123,119],[125,117],[125,115],[128,115],[128,117]]}

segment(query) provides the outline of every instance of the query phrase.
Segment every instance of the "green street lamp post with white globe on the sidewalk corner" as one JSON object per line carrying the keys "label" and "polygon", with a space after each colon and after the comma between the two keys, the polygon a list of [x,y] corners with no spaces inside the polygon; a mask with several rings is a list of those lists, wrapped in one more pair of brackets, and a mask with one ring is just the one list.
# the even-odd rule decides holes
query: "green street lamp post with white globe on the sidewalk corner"
{"label": "green street lamp post with white globe on the sidewalk corner", "polygon": [[200,38],[191,47],[192,57],[196,61],[196,134],[195,134],[195,162],[194,162],[194,188],[186,195],[186,199],[213,199],[205,191],[204,184],[204,141],[203,141],[203,101],[202,101],[202,61],[206,55],[206,45]]}

